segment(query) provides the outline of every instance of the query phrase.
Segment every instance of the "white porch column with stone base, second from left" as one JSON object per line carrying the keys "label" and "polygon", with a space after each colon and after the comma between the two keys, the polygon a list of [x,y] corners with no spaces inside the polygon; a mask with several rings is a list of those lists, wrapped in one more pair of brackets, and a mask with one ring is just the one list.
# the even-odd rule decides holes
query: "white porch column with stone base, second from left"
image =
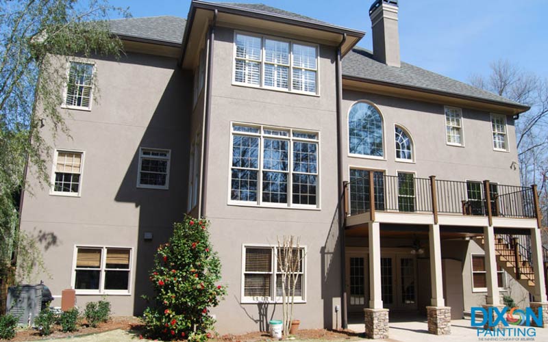
{"label": "white porch column with stone base, second from left", "polygon": [[440,225],[430,224],[430,281],[432,282],[431,306],[426,307],[428,332],[436,335],[451,334],[451,308],[443,299],[443,274],[441,267]]}

